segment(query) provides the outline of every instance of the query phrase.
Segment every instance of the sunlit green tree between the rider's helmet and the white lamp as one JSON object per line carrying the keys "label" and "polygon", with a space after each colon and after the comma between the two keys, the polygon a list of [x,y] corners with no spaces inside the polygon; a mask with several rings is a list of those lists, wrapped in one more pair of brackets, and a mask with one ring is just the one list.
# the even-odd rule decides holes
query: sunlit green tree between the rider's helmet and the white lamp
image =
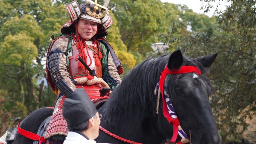
{"label": "sunlit green tree between the rider's helmet and the white lamp", "polygon": [[138,51],[142,56],[152,51],[150,45],[158,42],[157,35],[177,19],[176,9],[159,0],[112,0],[110,6],[127,51]]}

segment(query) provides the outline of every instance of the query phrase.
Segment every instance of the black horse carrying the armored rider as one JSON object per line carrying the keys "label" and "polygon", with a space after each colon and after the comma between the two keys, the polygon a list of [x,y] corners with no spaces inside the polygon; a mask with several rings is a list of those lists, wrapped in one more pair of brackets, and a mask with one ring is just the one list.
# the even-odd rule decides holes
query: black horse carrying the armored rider
{"label": "black horse carrying the armored rider", "polygon": [[[148,59],[126,75],[122,83],[113,90],[111,98],[99,109],[102,114],[101,126],[122,138],[143,144],[163,144],[172,137],[173,127],[163,116],[162,98],[157,111],[155,86],[166,64],[168,69],[181,66],[196,66],[202,74],[212,65],[217,54],[208,57],[187,58],[180,50],[171,55]],[[192,144],[220,144],[221,140],[209,103],[212,92],[211,82],[203,75],[194,72],[166,76],[167,92],[184,132],[191,132]],[[43,111],[42,111],[43,110]],[[20,127],[36,133],[43,121],[36,119],[47,109],[39,109],[23,120]],[[44,112],[45,111],[45,112]],[[33,128],[31,128],[33,127]],[[97,142],[127,144],[100,130]],[[32,144],[32,141],[16,133],[14,144]]]}

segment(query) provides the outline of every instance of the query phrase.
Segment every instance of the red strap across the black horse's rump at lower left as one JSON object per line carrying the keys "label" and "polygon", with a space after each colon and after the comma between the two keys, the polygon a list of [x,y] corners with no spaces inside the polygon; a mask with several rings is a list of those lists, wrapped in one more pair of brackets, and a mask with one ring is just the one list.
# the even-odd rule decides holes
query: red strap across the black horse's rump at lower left
{"label": "red strap across the black horse's rump at lower left", "polygon": [[20,135],[23,135],[26,138],[32,139],[34,141],[39,141],[39,144],[41,144],[42,142],[45,143],[46,140],[44,139],[44,136],[41,137],[35,133],[23,130],[22,128],[19,127],[19,125],[20,123],[17,125],[17,132],[20,133]]}

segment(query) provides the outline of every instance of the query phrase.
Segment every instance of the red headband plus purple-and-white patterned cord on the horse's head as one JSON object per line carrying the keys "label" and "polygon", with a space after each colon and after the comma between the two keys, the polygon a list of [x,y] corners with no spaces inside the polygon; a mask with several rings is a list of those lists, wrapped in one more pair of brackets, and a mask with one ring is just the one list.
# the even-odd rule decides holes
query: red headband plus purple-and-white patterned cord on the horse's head
{"label": "red headband plus purple-and-white patterned cord on the horse's head", "polygon": [[177,75],[177,74],[185,74],[185,73],[191,73],[191,72],[195,72],[201,75],[201,71],[196,66],[181,66],[180,69],[169,70],[166,65],[165,69],[163,70],[160,76],[160,81],[158,84],[159,84],[159,89],[160,89],[160,92],[162,93],[162,98],[163,98],[163,115],[164,117],[166,117],[168,122],[173,125],[173,135],[172,135],[172,139],[170,140],[171,142],[176,141],[178,134],[182,137],[183,141],[186,141],[186,143],[189,142],[190,140],[189,140],[189,137],[186,135],[186,133],[182,130],[180,126],[180,121],[178,120],[175,110],[172,107],[172,102],[170,101],[169,95],[166,90],[166,84],[164,84],[165,78],[166,78],[166,75],[170,75],[170,74]]}

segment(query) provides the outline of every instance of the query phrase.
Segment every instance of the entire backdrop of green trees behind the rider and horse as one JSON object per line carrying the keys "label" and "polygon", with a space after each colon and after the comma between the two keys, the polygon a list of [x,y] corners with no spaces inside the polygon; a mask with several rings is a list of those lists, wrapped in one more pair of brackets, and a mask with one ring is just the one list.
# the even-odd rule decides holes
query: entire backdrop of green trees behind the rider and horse
{"label": "entire backdrop of green trees behind the rider and horse", "polygon": [[[215,0],[201,1],[207,12]],[[256,1],[226,1],[227,10],[217,7],[218,16],[210,18],[160,0],[111,0],[107,38],[122,60],[123,75],[159,56],[152,43],[168,43],[166,54],[181,49],[192,58],[218,53],[207,76],[215,86],[210,101],[219,134],[224,144],[256,143]],[[58,37],[69,20],[70,2],[0,0],[0,135],[33,110],[54,105],[44,79],[45,56],[50,35]]]}

